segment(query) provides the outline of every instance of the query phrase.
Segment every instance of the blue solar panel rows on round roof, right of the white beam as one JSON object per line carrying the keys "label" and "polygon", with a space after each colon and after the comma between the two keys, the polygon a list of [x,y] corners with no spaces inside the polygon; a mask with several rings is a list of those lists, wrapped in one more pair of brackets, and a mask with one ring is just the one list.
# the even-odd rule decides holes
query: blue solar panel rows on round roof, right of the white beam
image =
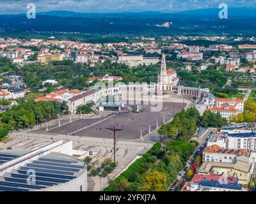
{"label": "blue solar panel rows on round roof, right of the white beam", "polygon": [[[21,166],[17,173],[4,176],[0,181],[0,191],[29,191],[56,186],[75,179],[76,173],[83,169],[84,165],[74,159],[40,157]],[[28,170],[35,171],[35,181],[30,180]]]}

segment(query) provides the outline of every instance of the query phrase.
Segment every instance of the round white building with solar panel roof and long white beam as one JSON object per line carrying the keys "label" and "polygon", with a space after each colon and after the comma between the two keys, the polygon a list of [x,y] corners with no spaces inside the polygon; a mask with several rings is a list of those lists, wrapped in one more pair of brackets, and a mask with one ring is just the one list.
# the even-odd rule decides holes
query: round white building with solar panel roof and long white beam
{"label": "round white building with solar panel roof and long white beam", "polygon": [[86,191],[87,168],[72,141],[32,150],[0,150],[0,191]]}

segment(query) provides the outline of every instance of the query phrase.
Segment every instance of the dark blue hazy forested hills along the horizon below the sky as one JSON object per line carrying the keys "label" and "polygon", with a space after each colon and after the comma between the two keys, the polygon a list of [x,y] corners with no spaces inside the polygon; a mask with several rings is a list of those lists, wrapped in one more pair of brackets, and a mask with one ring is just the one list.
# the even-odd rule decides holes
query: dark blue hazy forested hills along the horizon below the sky
{"label": "dark blue hazy forested hills along the horizon below the sky", "polygon": [[[230,8],[228,19],[218,18],[219,9],[182,11],[177,13],[76,13],[49,11],[36,14],[0,15],[0,31],[57,31],[99,34],[154,35],[255,35],[256,12],[252,8]],[[8,19],[7,19],[8,18]],[[172,22],[167,25],[166,22]],[[158,26],[157,26],[158,25]]]}

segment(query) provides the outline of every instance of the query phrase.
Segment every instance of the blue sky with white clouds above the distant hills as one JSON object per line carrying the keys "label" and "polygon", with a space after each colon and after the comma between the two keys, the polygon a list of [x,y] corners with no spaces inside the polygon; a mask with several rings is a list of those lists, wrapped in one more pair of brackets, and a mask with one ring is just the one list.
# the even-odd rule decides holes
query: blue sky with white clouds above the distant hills
{"label": "blue sky with white clouds above the distant hills", "polygon": [[28,3],[36,5],[36,11],[68,10],[76,12],[124,12],[124,11],[184,11],[201,8],[218,8],[220,3],[231,7],[253,7],[256,0],[0,0],[0,14],[24,13]]}

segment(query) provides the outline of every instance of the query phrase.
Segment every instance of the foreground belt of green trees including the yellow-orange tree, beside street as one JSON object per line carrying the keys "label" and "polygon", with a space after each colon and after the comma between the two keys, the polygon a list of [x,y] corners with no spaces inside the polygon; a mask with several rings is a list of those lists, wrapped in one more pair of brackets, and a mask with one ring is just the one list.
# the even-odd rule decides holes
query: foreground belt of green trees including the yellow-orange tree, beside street
{"label": "foreground belt of green trees including the yellow-orange tree, beside street", "polygon": [[197,145],[195,141],[157,142],[143,157],[111,180],[104,191],[168,191]]}

